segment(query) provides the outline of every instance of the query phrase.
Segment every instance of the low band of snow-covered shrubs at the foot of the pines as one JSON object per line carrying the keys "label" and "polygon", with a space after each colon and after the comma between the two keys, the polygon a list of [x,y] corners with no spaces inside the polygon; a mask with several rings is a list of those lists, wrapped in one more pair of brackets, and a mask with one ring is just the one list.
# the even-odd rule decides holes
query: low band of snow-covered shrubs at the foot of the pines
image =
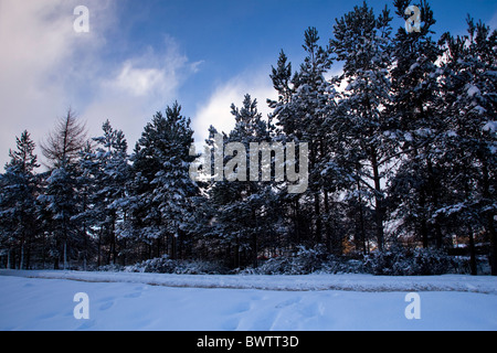
{"label": "low band of snow-covered shrubs at the foot of the pines", "polygon": [[[480,259],[487,264],[486,259]],[[308,275],[320,274],[372,274],[383,276],[431,276],[444,274],[469,274],[468,259],[448,256],[433,248],[405,248],[393,246],[369,255],[334,256],[324,246],[299,246],[293,254],[272,257],[258,267],[230,270],[219,263],[171,259],[167,255],[148,259],[133,266],[108,265],[98,270],[156,272],[177,275]],[[479,266],[478,272],[486,274]]]}

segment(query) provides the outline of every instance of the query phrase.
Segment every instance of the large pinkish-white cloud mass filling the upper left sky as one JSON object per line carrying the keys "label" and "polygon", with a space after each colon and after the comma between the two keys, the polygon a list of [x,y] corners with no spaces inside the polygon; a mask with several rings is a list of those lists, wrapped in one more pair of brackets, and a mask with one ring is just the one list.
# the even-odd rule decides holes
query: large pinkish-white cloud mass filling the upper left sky
{"label": "large pinkish-white cloud mass filling the upper left sky", "polygon": [[28,129],[40,145],[70,107],[91,136],[98,136],[108,118],[133,147],[152,114],[199,69],[201,62],[189,62],[168,35],[160,51],[148,47],[106,62],[107,38],[123,34],[118,3],[85,0],[89,32],[76,33],[80,2],[0,0],[0,170],[9,148],[15,148],[15,136]]}

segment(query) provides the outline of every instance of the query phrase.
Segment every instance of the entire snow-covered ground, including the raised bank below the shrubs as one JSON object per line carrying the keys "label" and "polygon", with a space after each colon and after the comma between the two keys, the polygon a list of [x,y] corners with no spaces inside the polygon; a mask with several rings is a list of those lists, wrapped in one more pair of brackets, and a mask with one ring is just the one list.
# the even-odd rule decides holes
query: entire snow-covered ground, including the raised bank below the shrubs
{"label": "entire snow-covered ground, including the raised bank below the shrubs", "polygon": [[[0,275],[0,330],[497,330],[495,277]],[[77,292],[89,319],[74,317]]]}

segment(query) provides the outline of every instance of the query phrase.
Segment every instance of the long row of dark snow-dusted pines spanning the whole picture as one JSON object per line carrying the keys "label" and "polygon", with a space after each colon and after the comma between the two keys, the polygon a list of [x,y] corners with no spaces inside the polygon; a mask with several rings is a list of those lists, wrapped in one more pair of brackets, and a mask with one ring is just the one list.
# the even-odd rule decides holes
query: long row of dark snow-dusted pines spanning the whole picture
{"label": "long row of dark snow-dusted pines spanning the whole picture", "polygon": [[[366,2],[336,19],[320,44],[305,31],[295,69],[282,50],[267,117],[245,95],[222,143],[307,142],[308,188],[288,181],[194,181],[193,130],[175,103],[144,128],[131,153],[103,124],[87,138],[73,111],[41,143],[28,131],[0,175],[0,256],[11,268],[129,265],[168,255],[231,268],[302,246],[337,256],[392,245],[487,256],[497,274],[497,31],[467,18],[467,34],[393,33],[406,0],[379,14]],[[330,74],[341,67],[339,75]],[[205,143],[219,146],[215,127]],[[272,158],[273,171],[275,156]],[[230,156],[223,156],[230,161]],[[250,156],[247,163],[250,163]]]}

